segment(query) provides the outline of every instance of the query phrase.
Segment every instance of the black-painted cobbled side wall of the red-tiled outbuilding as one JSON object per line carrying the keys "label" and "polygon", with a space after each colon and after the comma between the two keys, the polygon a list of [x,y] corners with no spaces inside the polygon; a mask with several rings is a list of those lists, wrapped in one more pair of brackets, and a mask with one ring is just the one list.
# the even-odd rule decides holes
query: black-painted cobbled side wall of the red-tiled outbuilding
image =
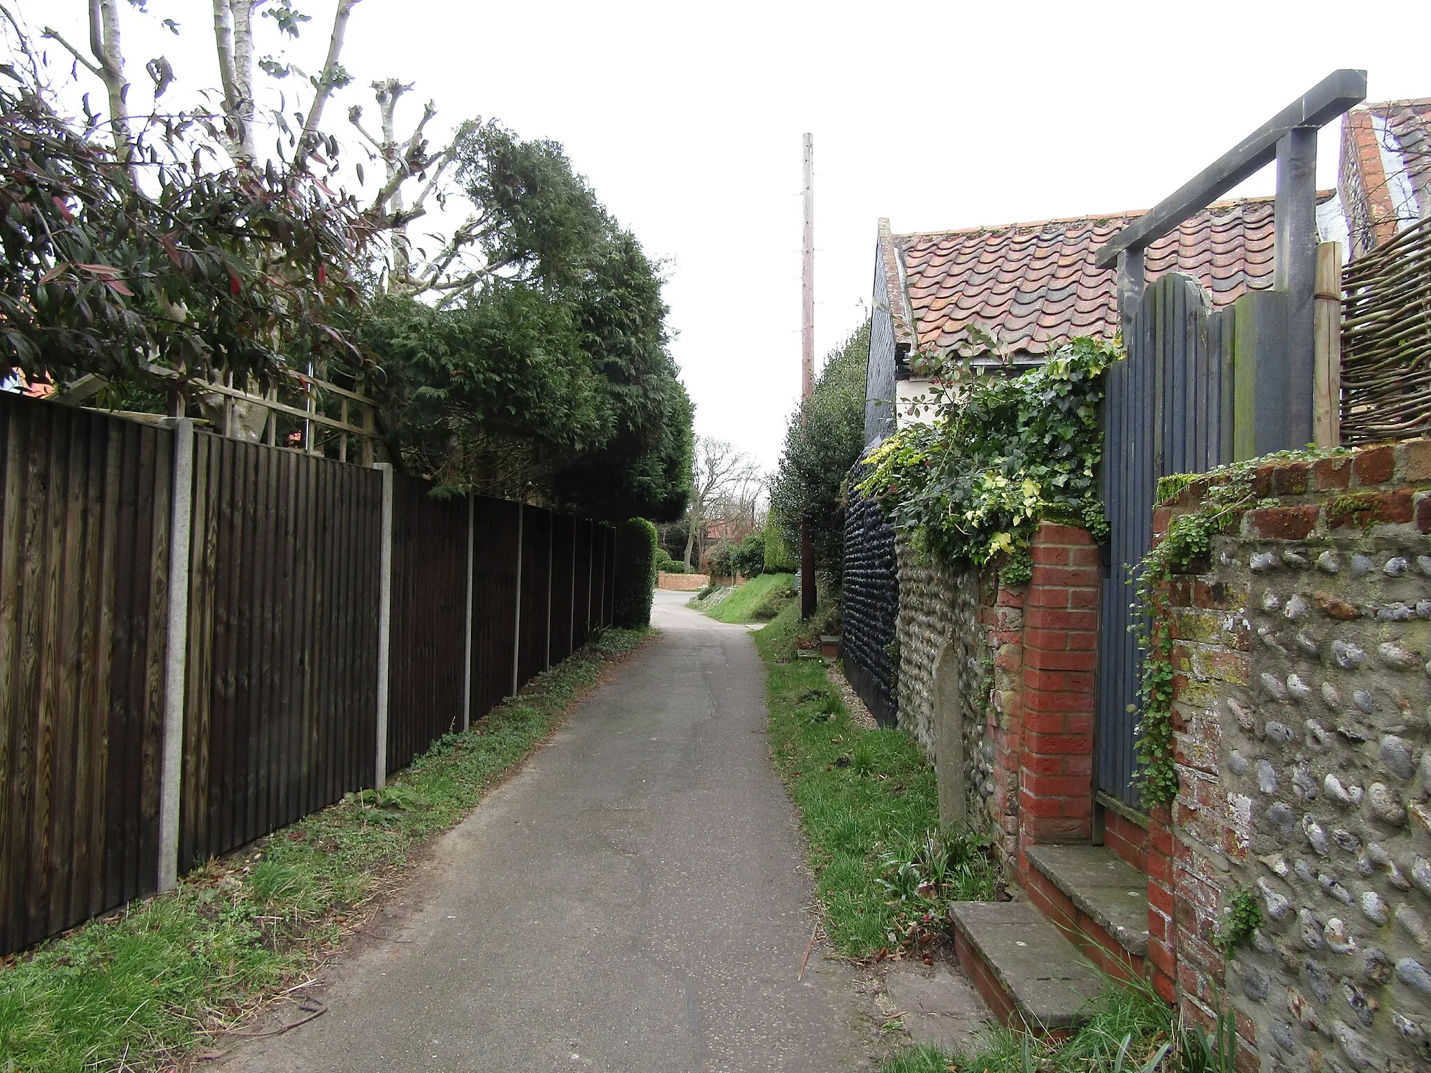
{"label": "black-painted cobbled side wall of the red-tiled outbuilding", "polygon": [[844,677],[884,725],[894,724],[894,619],[899,614],[894,528],[873,499],[850,496],[844,511],[840,657]]}

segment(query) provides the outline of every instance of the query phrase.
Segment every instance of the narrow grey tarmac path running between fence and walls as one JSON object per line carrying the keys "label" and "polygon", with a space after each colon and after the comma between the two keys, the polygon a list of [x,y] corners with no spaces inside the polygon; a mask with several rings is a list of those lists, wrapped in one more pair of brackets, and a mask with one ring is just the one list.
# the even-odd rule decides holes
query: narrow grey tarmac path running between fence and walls
{"label": "narrow grey tarmac path running between fence and walls", "polygon": [[796,981],[813,891],[764,665],[687,598],[325,967],[326,1014],[203,1067],[867,1069],[854,973],[816,949]]}

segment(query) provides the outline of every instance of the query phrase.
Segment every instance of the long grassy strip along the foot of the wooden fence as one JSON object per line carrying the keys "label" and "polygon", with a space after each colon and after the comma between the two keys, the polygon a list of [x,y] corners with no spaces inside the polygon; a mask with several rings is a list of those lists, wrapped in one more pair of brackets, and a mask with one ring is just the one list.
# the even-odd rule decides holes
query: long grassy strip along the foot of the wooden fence
{"label": "long grassy strip along the foot of the wooden fence", "polygon": [[[455,825],[645,631],[607,629],[381,794],[363,791],[0,969],[0,1070],[170,1064],[306,979],[406,854]],[[215,1046],[223,1046],[222,1034]]]}

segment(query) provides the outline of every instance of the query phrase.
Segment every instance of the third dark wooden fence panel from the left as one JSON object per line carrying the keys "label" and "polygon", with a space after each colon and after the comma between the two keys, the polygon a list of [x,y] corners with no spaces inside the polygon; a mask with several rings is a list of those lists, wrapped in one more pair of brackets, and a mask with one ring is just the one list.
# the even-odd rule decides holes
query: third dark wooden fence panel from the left
{"label": "third dark wooden fence panel from the left", "polygon": [[389,773],[462,730],[467,499],[434,499],[431,489],[394,475]]}

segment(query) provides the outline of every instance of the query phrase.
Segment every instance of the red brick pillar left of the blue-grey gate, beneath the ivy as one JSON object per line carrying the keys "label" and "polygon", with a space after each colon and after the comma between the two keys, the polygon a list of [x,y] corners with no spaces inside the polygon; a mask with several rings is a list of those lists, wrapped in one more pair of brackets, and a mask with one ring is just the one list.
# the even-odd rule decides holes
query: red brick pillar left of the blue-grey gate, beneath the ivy
{"label": "red brick pillar left of the blue-grey gate, beneath the ivy", "polygon": [[[1086,841],[1093,817],[1098,545],[1045,522],[1023,608],[1019,843]],[[1026,871],[1020,853],[1020,878]]]}

